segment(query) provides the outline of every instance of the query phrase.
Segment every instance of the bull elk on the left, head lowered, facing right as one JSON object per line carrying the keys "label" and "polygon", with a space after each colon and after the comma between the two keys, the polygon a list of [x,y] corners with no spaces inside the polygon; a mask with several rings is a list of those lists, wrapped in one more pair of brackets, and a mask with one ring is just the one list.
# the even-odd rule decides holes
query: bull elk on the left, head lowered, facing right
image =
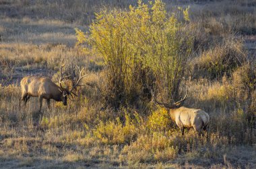
{"label": "bull elk on the left, head lowered, facing right", "polygon": [[[20,81],[20,86],[22,88],[22,98],[21,100],[24,101],[24,104],[26,106],[26,102],[28,102],[29,98],[32,97],[38,97],[40,102],[40,108],[39,112],[42,108],[42,99],[46,99],[46,102],[48,104],[48,108],[50,108],[50,100],[53,99],[57,102],[63,102],[65,106],[67,106],[67,98],[72,95],[77,96],[73,90],[77,88],[78,86],[84,86],[81,85],[81,80],[86,77],[87,75],[82,75],[84,68],[80,71],[79,67],[79,77],[78,80],[73,83],[71,90],[67,88],[63,88],[61,83],[63,82],[63,79],[66,79],[70,77],[71,75],[67,75],[63,77],[62,69],[64,65],[61,66],[60,69],[60,79],[59,79],[59,86],[57,86],[51,79],[48,77],[37,77],[37,76],[26,76]],[[69,98],[69,99],[71,99]]]}

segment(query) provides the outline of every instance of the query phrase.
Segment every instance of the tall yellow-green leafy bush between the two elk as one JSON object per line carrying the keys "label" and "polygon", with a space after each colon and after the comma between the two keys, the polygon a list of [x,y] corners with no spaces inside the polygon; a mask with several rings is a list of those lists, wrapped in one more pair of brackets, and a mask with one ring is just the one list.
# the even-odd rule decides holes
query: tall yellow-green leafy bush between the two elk
{"label": "tall yellow-green leafy bush between the two elk", "polygon": [[165,4],[160,0],[150,5],[138,1],[129,11],[102,10],[84,34],[75,29],[77,44],[85,51],[92,50],[102,56],[106,67],[106,103],[118,108],[134,102],[142,87],[150,88],[156,75],[158,88],[164,94],[177,97],[179,84],[192,53],[193,38],[186,31],[189,21],[188,9],[168,16]]}

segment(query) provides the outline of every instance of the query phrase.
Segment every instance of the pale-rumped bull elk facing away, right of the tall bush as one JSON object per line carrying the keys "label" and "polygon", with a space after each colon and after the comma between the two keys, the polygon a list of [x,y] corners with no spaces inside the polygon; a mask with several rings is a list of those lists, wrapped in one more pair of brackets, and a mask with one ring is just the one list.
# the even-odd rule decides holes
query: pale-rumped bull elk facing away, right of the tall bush
{"label": "pale-rumped bull elk facing away, right of the tall bush", "polygon": [[170,118],[176,123],[176,125],[181,129],[181,134],[184,135],[185,128],[193,128],[199,135],[201,135],[202,130],[207,132],[207,125],[209,123],[209,115],[201,110],[195,108],[186,108],[181,106],[181,104],[187,99],[187,94],[179,102],[174,104],[166,104],[159,102],[156,96],[153,96],[154,101],[157,104],[163,105],[168,108],[170,113]]}

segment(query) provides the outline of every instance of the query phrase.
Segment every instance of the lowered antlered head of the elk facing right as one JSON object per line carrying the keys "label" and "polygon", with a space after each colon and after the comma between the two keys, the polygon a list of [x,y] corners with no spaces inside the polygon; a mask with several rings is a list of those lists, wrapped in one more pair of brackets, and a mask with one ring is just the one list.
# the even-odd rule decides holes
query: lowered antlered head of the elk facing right
{"label": "lowered antlered head of the elk facing right", "polygon": [[[59,87],[60,87],[60,90],[62,92],[62,94],[61,94],[61,101],[63,102],[63,104],[65,106],[67,106],[67,98],[69,98],[69,100],[73,100],[73,99],[71,99],[71,98],[73,98],[73,95],[74,96],[79,96],[79,95],[75,94],[75,92],[73,92],[73,90],[76,89],[79,86],[84,86],[84,84],[81,84],[81,81],[88,74],[83,75],[84,67],[82,68],[82,70],[80,70],[80,68],[77,66],[77,68],[79,70],[79,75],[77,77],[77,81],[72,79],[72,87],[71,87],[71,90],[69,90],[68,87],[67,88],[63,88],[63,86],[61,85],[61,83],[63,83],[63,79],[67,79],[67,78],[71,77],[71,75],[66,75],[65,77],[63,77],[63,73],[62,73],[63,67],[64,67],[64,65],[61,65]],[[71,96],[71,98],[69,96]]]}

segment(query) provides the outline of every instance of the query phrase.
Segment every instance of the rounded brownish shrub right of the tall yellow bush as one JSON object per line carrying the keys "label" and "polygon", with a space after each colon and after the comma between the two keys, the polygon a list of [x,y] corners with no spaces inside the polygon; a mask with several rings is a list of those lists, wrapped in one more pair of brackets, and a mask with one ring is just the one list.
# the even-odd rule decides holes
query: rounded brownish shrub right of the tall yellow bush
{"label": "rounded brownish shrub right of the tall yellow bush", "polygon": [[223,44],[195,58],[191,65],[193,79],[221,79],[224,74],[230,77],[237,67],[245,63],[243,43],[235,40],[232,35],[223,41]]}

